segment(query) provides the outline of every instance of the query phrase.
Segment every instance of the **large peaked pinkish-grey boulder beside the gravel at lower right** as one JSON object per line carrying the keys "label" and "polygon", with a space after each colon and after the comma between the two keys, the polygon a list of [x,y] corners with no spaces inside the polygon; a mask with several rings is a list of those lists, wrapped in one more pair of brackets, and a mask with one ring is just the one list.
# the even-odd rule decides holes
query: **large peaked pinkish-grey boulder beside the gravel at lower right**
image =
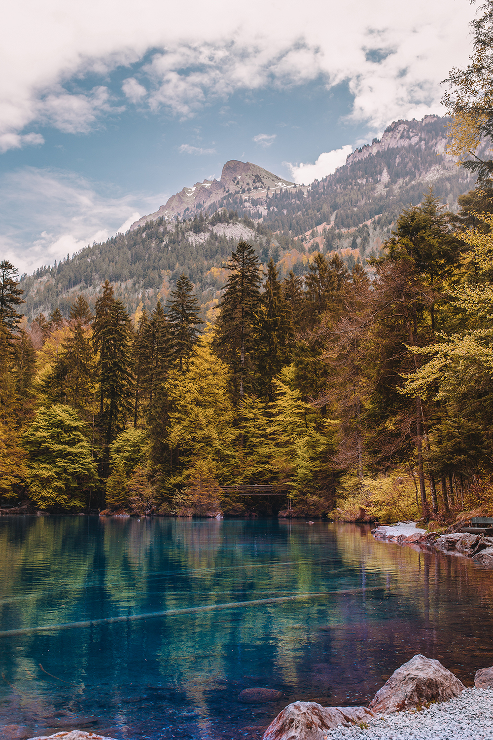
{"label": "large peaked pinkish-grey boulder beside the gravel at lower right", "polygon": [[446,702],[463,689],[463,683],[440,661],[415,655],[392,673],[369,708],[375,713],[400,712],[426,702]]}

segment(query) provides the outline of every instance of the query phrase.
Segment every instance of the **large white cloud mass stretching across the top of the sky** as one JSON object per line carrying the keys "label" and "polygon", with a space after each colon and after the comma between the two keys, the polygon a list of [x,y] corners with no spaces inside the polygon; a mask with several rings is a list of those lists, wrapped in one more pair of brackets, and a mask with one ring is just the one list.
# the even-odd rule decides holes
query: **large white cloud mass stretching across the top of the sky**
{"label": "large white cloud mass stretching across the top of the sky", "polygon": [[[132,0],[116,13],[112,0],[8,4],[0,32],[0,135],[11,137],[4,147],[29,143],[16,135],[40,122],[88,131],[114,110],[111,73],[130,65],[143,84],[123,82],[127,104],[147,99],[150,110],[185,118],[237,90],[347,81],[350,118],[381,132],[396,118],[437,112],[439,82],[467,62],[475,6],[286,0],[279,14],[265,0],[214,0],[213,10],[203,0],[188,0],[186,13],[160,0],[140,0],[138,13]],[[101,84],[81,91],[89,73]]]}

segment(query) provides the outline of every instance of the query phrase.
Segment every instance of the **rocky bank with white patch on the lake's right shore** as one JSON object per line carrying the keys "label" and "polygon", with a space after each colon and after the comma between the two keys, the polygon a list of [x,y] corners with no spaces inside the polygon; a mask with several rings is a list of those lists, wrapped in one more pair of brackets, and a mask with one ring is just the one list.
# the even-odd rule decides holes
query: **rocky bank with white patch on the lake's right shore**
{"label": "rocky bank with white patch on the lake's right shore", "polygon": [[[459,528],[459,525],[455,525],[455,528]],[[449,529],[451,531],[438,534],[416,528],[415,522],[398,522],[396,525],[377,527],[372,530],[372,534],[381,542],[395,542],[398,545],[413,545],[421,550],[463,555],[486,568],[493,568],[493,537],[453,531],[452,527]]]}

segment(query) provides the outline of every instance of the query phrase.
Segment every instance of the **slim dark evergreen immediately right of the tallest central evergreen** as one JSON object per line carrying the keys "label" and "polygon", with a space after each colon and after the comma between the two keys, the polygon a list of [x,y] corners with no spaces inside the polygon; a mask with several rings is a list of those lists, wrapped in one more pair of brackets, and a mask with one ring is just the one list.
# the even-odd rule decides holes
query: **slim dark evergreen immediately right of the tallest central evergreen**
{"label": "slim dark evergreen immediately right of the tallest central evergreen", "polygon": [[288,304],[282,295],[273,259],[268,263],[267,279],[262,293],[262,308],[257,340],[257,375],[262,396],[273,401],[273,378],[290,363],[294,331]]}

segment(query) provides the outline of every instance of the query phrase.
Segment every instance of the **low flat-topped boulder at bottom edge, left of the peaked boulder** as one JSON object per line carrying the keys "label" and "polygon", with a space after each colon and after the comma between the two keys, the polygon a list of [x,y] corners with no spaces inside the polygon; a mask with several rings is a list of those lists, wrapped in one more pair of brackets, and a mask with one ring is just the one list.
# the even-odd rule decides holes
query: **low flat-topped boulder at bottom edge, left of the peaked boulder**
{"label": "low flat-topped boulder at bottom edge, left of the peaked boulder", "polygon": [[324,740],[327,730],[339,724],[350,727],[372,717],[373,712],[367,707],[322,707],[316,702],[293,702],[271,721],[262,740]]}

